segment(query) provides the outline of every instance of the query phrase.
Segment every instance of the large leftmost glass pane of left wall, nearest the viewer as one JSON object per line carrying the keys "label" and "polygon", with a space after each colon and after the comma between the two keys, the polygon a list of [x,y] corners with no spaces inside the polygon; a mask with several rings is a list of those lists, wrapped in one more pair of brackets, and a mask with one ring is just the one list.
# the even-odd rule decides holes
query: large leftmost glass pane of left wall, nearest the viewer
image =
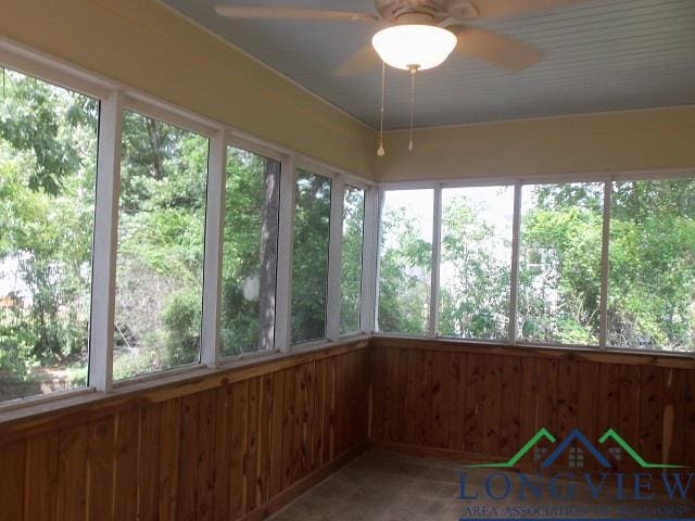
{"label": "large leftmost glass pane of left wall, nearest the viewer", "polygon": [[99,102],[0,75],[4,402],[87,383]]}

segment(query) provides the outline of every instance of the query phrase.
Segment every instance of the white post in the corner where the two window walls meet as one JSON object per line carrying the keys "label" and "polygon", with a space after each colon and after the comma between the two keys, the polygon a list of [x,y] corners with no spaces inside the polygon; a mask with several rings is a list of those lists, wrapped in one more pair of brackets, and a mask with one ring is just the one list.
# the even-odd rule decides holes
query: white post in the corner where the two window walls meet
{"label": "white post in the corner where the two window walls meet", "polygon": [[377,206],[379,202],[377,187],[365,190],[365,220],[362,245],[362,291],[359,297],[359,331],[371,333],[375,330],[375,304],[377,293]]}

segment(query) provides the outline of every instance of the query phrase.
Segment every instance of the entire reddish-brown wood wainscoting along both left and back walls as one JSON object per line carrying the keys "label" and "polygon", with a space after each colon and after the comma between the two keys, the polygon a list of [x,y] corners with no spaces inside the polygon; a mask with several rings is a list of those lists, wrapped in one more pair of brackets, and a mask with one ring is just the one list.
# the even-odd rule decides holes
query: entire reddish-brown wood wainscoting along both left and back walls
{"label": "entire reddish-brown wood wainscoting along both left and back walls", "polygon": [[368,434],[475,461],[615,428],[695,467],[694,398],[691,359],[376,338],[3,421],[0,519],[260,520]]}

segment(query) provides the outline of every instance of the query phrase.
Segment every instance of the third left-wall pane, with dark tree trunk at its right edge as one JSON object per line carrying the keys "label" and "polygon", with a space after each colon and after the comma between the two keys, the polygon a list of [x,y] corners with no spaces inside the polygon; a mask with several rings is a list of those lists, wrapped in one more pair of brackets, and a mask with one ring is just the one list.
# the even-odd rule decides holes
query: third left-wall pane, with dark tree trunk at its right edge
{"label": "third left-wall pane, with dark tree trunk at its right edge", "polygon": [[228,148],[222,267],[224,356],[273,348],[279,180],[279,162]]}

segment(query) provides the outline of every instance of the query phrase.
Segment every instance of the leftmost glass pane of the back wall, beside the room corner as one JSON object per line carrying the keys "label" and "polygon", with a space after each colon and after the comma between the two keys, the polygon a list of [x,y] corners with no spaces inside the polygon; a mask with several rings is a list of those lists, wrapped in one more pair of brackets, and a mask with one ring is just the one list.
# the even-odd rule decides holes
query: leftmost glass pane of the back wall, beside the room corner
{"label": "leftmost glass pane of the back wall, beside the room corner", "polygon": [[425,334],[432,262],[432,190],[391,190],[381,208],[379,331]]}

